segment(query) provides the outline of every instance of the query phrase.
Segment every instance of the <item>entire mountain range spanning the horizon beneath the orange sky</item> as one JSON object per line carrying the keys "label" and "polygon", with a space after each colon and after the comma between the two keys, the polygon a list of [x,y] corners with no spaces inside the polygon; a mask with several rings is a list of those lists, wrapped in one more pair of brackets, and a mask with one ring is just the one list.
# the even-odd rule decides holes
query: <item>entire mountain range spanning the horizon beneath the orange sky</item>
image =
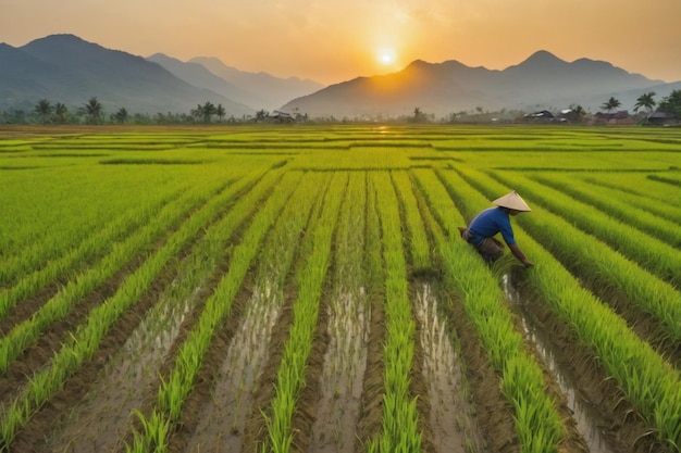
{"label": "entire mountain range spanning the horizon beneath the orange sky", "polygon": [[324,87],[310,79],[243,72],[214,56],[186,62],[162,53],[143,58],[69,34],[18,48],[0,43],[0,109],[33,109],[39,99],[83,105],[97,97],[108,113],[117,108],[189,113],[210,101],[221,103],[227,117],[246,117],[260,109],[337,118],[409,116],[417,108],[436,116],[571,104],[597,111],[609,97],[627,109],[644,92],[655,91],[659,100],[680,84],[648,79],[598,60],[567,62],[547,50],[505,70],[414,60],[398,72]]}

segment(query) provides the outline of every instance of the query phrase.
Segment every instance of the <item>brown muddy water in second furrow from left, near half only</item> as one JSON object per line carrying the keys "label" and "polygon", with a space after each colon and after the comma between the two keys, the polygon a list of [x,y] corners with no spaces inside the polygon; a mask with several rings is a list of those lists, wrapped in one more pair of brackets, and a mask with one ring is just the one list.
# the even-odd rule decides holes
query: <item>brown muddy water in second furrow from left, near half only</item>
{"label": "brown muddy water in second furrow from left, near half only", "polygon": [[284,297],[272,284],[253,289],[244,320],[215,377],[211,401],[201,410],[187,452],[239,452],[252,411],[258,376]]}

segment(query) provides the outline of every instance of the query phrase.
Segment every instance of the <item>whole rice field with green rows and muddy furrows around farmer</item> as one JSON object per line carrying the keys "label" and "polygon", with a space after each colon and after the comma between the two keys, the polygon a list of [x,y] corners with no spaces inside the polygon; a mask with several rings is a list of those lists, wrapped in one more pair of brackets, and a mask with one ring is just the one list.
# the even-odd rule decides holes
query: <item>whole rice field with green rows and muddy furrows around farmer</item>
{"label": "whole rice field with green rows and muddy furrows around farmer", "polygon": [[681,451],[681,130],[0,128],[0,452]]}

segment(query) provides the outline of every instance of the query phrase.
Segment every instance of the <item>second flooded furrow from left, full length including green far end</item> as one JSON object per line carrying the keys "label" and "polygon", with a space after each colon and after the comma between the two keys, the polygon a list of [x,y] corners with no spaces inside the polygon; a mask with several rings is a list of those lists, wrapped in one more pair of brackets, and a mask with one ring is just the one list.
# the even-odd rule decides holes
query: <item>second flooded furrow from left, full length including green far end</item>
{"label": "second flooded furrow from left, full length including green far end", "polygon": [[269,373],[277,362],[272,357],[273,351],[274,355],[278,354],[278,341],[286,336],[290,322],[287,307],[295,291],[289,291],[288,274],[299,253],[301,231],[314,212],[312,206],[319,207],[321,201],[318,198],[304,203],[299,199],[309,197],[323,181],[324,175],[304,178],[268,234],[258,269],[253,272],[255,284],[249,285],[253,289],[244,298],[243,316],[234,322],[233,335],[224,338],[224,349],[214,354],[210,398],[197,402],[197,423],[183,451],[255,449],[257,440],[251,435],[264,424],[261,405],[271,391]]}

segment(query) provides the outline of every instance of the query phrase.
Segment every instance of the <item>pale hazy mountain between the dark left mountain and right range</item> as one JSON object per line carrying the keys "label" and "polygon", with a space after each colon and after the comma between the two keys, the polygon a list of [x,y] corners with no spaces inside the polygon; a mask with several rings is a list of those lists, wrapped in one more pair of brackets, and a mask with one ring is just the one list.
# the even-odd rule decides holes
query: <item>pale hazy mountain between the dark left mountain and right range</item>
{"label": "pale hazy mountain between the dark left mountain and right range", "polygon": [[190,63],[201,64],[211,73],[240,88],[242,93],[234,99],[256,110],[280,109],[292,99],[299,98],[322,88],[323,85],[298,77],[278,78],[268,73],[249,73],[225,65],[216,58],[197,56]]}

